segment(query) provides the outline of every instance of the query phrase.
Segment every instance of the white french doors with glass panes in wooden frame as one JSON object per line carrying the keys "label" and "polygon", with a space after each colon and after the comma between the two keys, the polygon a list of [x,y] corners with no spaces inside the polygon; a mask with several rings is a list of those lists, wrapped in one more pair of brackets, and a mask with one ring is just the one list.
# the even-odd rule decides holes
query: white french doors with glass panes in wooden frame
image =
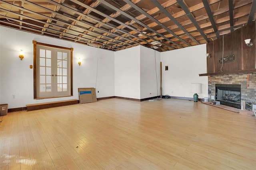
{"label": "white french doors with glass panes in wooden frame", "polygon": [[37,98],[70,96],[70,50],[36,46]]}

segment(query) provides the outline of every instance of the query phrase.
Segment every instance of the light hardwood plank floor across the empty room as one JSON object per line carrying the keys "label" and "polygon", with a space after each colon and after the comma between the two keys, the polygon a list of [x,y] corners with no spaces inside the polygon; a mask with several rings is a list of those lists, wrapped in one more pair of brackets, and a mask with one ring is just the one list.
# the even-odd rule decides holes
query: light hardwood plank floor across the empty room
{"label": "light hardwood plank floor across the empty room", "polygon": [[200,102],[112,98],[0,120],[1,170],[256,168],[256,118]]}

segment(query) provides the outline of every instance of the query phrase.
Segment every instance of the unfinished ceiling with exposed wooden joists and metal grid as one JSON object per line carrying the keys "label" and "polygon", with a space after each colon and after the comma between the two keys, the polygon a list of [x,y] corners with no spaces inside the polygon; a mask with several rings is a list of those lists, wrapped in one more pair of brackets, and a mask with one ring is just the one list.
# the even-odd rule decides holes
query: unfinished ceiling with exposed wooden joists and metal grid
{"label": "unfinished ceiling with exposed wooden joists and metal grid", "polygon": [[256,0],[1,0],[0,25],[118,51],[204,44],[256,19]]}

